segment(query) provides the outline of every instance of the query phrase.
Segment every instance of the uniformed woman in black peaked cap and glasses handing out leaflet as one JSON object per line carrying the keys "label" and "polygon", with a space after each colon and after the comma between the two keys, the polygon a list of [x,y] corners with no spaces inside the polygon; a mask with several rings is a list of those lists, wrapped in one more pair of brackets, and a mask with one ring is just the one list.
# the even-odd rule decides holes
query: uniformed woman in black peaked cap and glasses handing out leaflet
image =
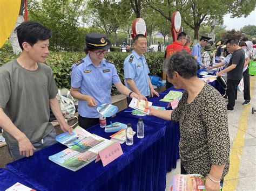
{"label": "uniformed woman in black peaked cap and glasses handing out leaflet", "polygon": [[72,66],[71,95],[78,99],[78,123],[87,129],[99,123],[97,105],[111,104],[112,83],[120,93],[140,98],[120,81],[114,64],[104,59],[110,41],[99,33],[87,34],[85,41],[87,56]]}

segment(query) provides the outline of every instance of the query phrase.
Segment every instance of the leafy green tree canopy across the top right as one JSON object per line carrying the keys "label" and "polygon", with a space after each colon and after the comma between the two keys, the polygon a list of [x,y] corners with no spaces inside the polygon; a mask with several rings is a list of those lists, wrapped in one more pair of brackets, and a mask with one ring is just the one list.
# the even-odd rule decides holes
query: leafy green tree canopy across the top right
{"label": "leafy green tree canopy across the top right", "polygon": [[159,12],[159,15],[171,21],[172,13],[179,11],[182,21],[194,30],[194,39],[199,38],[202,24],[211,25],[213,21],[223,22],[223,16],[231,13],[232,17],[248,16],[253,10],[255,1],[233,0],[193,0],[193,1],[151,1],[145,0],[148,6]]}

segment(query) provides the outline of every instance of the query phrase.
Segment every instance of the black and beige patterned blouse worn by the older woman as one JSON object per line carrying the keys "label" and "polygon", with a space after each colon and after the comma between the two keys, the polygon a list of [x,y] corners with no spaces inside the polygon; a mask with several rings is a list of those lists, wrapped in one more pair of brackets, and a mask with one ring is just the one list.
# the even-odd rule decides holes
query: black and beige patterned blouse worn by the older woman
{"label": "black and beige patterned blouse worn by the older woman", "polygon": [[205,83],[187,104],[185,91],[171,119],[180,123],[179,154],[186,172],[206,176],[212,164],[225,165],[224,178],[229,167],[230,137],[226,104],[219,92]]}

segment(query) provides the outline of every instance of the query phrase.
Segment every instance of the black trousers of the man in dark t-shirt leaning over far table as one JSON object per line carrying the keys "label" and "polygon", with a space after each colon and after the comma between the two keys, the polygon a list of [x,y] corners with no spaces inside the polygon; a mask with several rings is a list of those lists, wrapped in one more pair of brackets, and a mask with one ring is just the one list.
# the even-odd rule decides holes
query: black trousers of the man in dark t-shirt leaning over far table
{"label": "black trousers of the man in dark t-shirt leaning over far table", "polygon": [[235,97],[237,93],[237,86],[241,80],[229,80],[227,79],[227,108],[233,110],[235,105]]}

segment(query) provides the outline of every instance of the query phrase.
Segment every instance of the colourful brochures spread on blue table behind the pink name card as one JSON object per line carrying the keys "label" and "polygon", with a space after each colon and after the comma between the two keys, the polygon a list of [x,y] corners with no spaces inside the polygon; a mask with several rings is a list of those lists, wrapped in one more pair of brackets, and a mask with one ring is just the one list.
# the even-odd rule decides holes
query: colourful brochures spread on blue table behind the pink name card
{"label": "colourful brochures spread on blue table behind the pink name card", "polygon": [[68,132],[56,137],[59,143],[69,148],[49,156],[49,160],[56,164],[77,171],[95,160],[99,151],[113,144],[112,140],[93,135],[77,126],[70,135]]}

